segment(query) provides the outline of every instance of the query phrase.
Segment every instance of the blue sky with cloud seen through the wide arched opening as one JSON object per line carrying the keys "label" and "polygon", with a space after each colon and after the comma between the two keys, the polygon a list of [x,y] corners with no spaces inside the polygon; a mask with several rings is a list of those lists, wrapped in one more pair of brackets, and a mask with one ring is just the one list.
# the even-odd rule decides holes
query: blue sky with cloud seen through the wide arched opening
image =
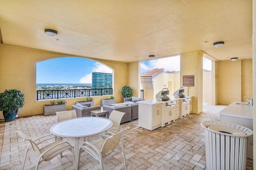
{"label": "blue sky with cloud seen through the wide arched opening", "polygon": [[63,57],[36,63],[36,83],[92,83],[92,70],[110,68],[89,59]]}

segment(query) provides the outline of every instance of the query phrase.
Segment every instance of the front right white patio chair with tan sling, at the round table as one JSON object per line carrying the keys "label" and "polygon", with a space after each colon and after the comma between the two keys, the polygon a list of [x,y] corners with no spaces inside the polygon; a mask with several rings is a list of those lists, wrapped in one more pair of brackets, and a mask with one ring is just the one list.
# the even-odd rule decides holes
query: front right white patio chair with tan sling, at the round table
{"label": "front right white patio chair with tan sling, at the round table", "polygon": [[[126,129],[129,129],[129,127],[127,127]],[[118,145],[121,145],[123,157],[124,157],[124,165],[122,166],[122,168],[124,168],[124,167],[126,168],[124,142],[122,140],[120,140],[126,129],[119,131],[118,133],[115,133],[114,135],[107,137],[106,139],[100,138],[100,139],[97,139],[96,141],[93,141],[92,143],[90,143],[90,142],[83,143],[79,149],[78,166],[77,167],[79,168],[81,152],[86,151],[90,155],[92,155],[93,158],[100,161],[101,169],[104,170],[103,157],[110,154]],[[122,169],[122,168],[120,168],[120,169]]]}

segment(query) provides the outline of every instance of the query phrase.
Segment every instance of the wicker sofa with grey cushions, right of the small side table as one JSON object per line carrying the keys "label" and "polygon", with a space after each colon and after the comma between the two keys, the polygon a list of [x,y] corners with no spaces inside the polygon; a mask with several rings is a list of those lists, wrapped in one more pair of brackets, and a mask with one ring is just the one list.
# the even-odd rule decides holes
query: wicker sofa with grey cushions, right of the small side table
{"label": "wicker sofa with grey cushions, right of the small side table", "polygon": [[108,111],[108,117],[110,117],[113,110],[124,112],[125,114],[123,115],[120,123],[132,121],[132,106],[103,106],[103,110]]}

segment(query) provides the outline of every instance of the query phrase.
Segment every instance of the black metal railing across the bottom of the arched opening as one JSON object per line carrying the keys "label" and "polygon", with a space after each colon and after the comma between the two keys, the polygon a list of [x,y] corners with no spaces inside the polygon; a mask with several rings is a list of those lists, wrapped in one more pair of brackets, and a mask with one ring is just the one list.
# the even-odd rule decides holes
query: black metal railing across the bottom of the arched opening
{"label": "black metal railing across the bottom of the arched opening", "polygon": [[104,96],[112,95],[112,88],[97,89],[72,89],[72,90],[38,90],[36,91],[36,100],[76,98],[86,96]]}

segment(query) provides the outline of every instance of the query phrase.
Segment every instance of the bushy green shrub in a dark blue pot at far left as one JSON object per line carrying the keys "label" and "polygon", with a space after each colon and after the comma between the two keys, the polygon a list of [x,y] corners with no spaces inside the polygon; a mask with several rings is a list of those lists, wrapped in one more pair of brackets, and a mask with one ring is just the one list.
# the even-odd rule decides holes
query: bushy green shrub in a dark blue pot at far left
{"label": "bushy green shrub in a dark blue pot at far left", "polygon": [[0,111],[5,121],[13,121],[18,109],[24,106],[24,94],[20,90],[10,89],[0,93]]}

